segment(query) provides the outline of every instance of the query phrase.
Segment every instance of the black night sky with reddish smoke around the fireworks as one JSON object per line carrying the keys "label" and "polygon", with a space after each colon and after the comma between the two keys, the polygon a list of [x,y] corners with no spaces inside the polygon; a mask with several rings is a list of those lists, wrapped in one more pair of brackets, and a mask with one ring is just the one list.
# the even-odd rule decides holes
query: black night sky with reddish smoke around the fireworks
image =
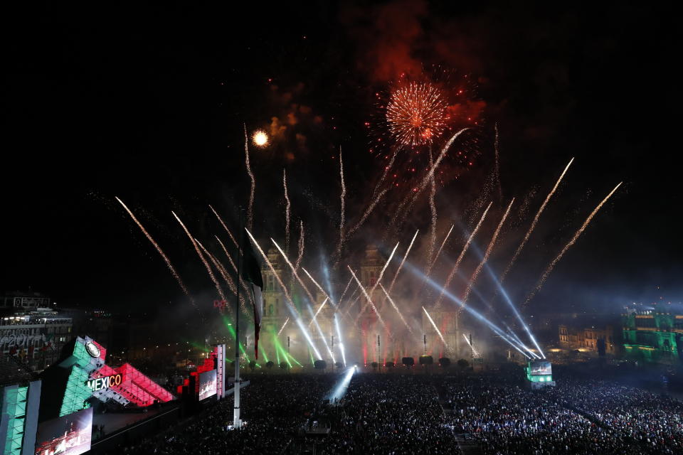
{"label": "black night sky with reddish smoke around the fireworks", "polygon": [[[453,219],[467,222],[492,168],[497,122],[503,202],[517,196],[521,203],[536,188],[526,218],[507,231],[513,239],[576,157],[510,277],[517,299],[623,181],[535,308],[618,311],[630,301],[682,300],[673,11],[623,2],[249,3],[11,6],[3,58],[3,291],[30,287],[63,306],[121,312],[182,304],[119,196],[208,307],[211,282],[171,210],[202,239],[222,235],[209,203],[236,229],[236,207],[248,198],[243,123],[281,132],[269,149],[251,149],[255,234],[283,237],[286,168],[292,220],[307,226],[305,262],[319,265],[336,246],[339,146],[353,224],[384,165],[369,153],[364,125],[376,115],[375,93],[401,72],[440,65],[469,75],[472,96],[485,107],[468,139],[477,144],[473,164],[450,161],[453,176],[438,188],[439,240]],[[366,241],[386,250],[398,240],[406,245],[416,228],[428,231],[423,197],[401,235],[381,242],[386,214],[402,195],[388,193],[351,250]],[[490,199],[499,218],[499,200]],[[457,255],[457,245],[447,256]],[[504,242],[494,267],[516,245]]]}

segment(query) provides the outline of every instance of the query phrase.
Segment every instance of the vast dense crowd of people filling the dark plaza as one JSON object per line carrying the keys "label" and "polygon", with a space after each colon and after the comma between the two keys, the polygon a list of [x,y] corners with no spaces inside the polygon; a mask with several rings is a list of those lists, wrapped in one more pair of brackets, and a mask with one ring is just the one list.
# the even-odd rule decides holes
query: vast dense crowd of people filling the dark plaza
{"label": "vast dense crowd of people filling the dark plaza", "polygon": [[228,397],[117,454],[457,454],[463,438],[491,455],[683,453],[681,402],[578,378],[529,390],[519,373],[355,374],[329,405],[339,374],[257,376],[243,429],[230,428]]}

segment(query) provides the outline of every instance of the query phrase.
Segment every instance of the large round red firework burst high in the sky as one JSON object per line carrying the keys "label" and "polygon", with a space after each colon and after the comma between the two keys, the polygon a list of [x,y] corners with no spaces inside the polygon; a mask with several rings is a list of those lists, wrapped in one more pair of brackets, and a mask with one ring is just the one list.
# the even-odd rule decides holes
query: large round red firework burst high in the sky
{"label": "large round red firework burst high in the sky", "polygon": [[447,107],[443,93],[428,82],[398,87],[386,107],[389,132],[399,144],[430,144],[446,127]]}

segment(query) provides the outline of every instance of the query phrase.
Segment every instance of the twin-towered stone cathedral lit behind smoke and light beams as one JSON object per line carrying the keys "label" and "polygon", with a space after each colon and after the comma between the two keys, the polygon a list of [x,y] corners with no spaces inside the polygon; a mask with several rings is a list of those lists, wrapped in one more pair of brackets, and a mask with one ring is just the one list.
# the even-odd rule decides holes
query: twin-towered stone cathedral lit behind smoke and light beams
{"label": "twin-towered stone cathedral lit behind smoke and light beams", "polygon": [[[307,294],[295,282],[290,267],[275,248],[268,251],[268,260],[287,287],[292,304],[300,314],[300,320],[297,321],[288,308],[287,296],[272,270],[270,267],[263,268],[263,319],[259,351],[265,350],[273,362],[286,362],[295,367],[322,358],[328,365],[343,364],[344,359],[346,363],[358,365],[371,365],[374,362],[379,365],[388,362],[398,365],[403,357],[413,357],[417,362],[420,355],[431,355],[436,362],[441,357],[464,355],[460,353],[462,334],[455,309],[442,305],[437,311],[431,311],[428,306],[432,304],[431,301],[402,299],[392,295],[392,300],[403,313],[401,319],[378,286],[377,280],[386,258],[381,256],[376,247],[368,247],[359,267],[354,269],[365,292],[352,280],[339,311],[302,274],[300,277],[315,300],[314,306],[310,307]],[[384,287],[388,287],[390,279],[385,274],[382,279]],[[325,287],[324,283],[322,286]],[[366,293],[369,294],[373,288],[371,304]],[[422,306],[430,311],[443,340],[422,311]],[[309,340],[302,328],[307,331]]]}

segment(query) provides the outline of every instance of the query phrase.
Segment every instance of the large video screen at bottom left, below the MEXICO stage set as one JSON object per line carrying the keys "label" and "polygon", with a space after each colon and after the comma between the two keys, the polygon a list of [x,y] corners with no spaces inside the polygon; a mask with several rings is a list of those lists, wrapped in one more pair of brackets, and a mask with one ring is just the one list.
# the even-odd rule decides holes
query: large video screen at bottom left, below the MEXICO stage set
{"label": "large video screen at bottom left, below the MEXICO stage set", "polygon": [[90,450],[92,407],[38,424],[36,455],[78,455]]}

